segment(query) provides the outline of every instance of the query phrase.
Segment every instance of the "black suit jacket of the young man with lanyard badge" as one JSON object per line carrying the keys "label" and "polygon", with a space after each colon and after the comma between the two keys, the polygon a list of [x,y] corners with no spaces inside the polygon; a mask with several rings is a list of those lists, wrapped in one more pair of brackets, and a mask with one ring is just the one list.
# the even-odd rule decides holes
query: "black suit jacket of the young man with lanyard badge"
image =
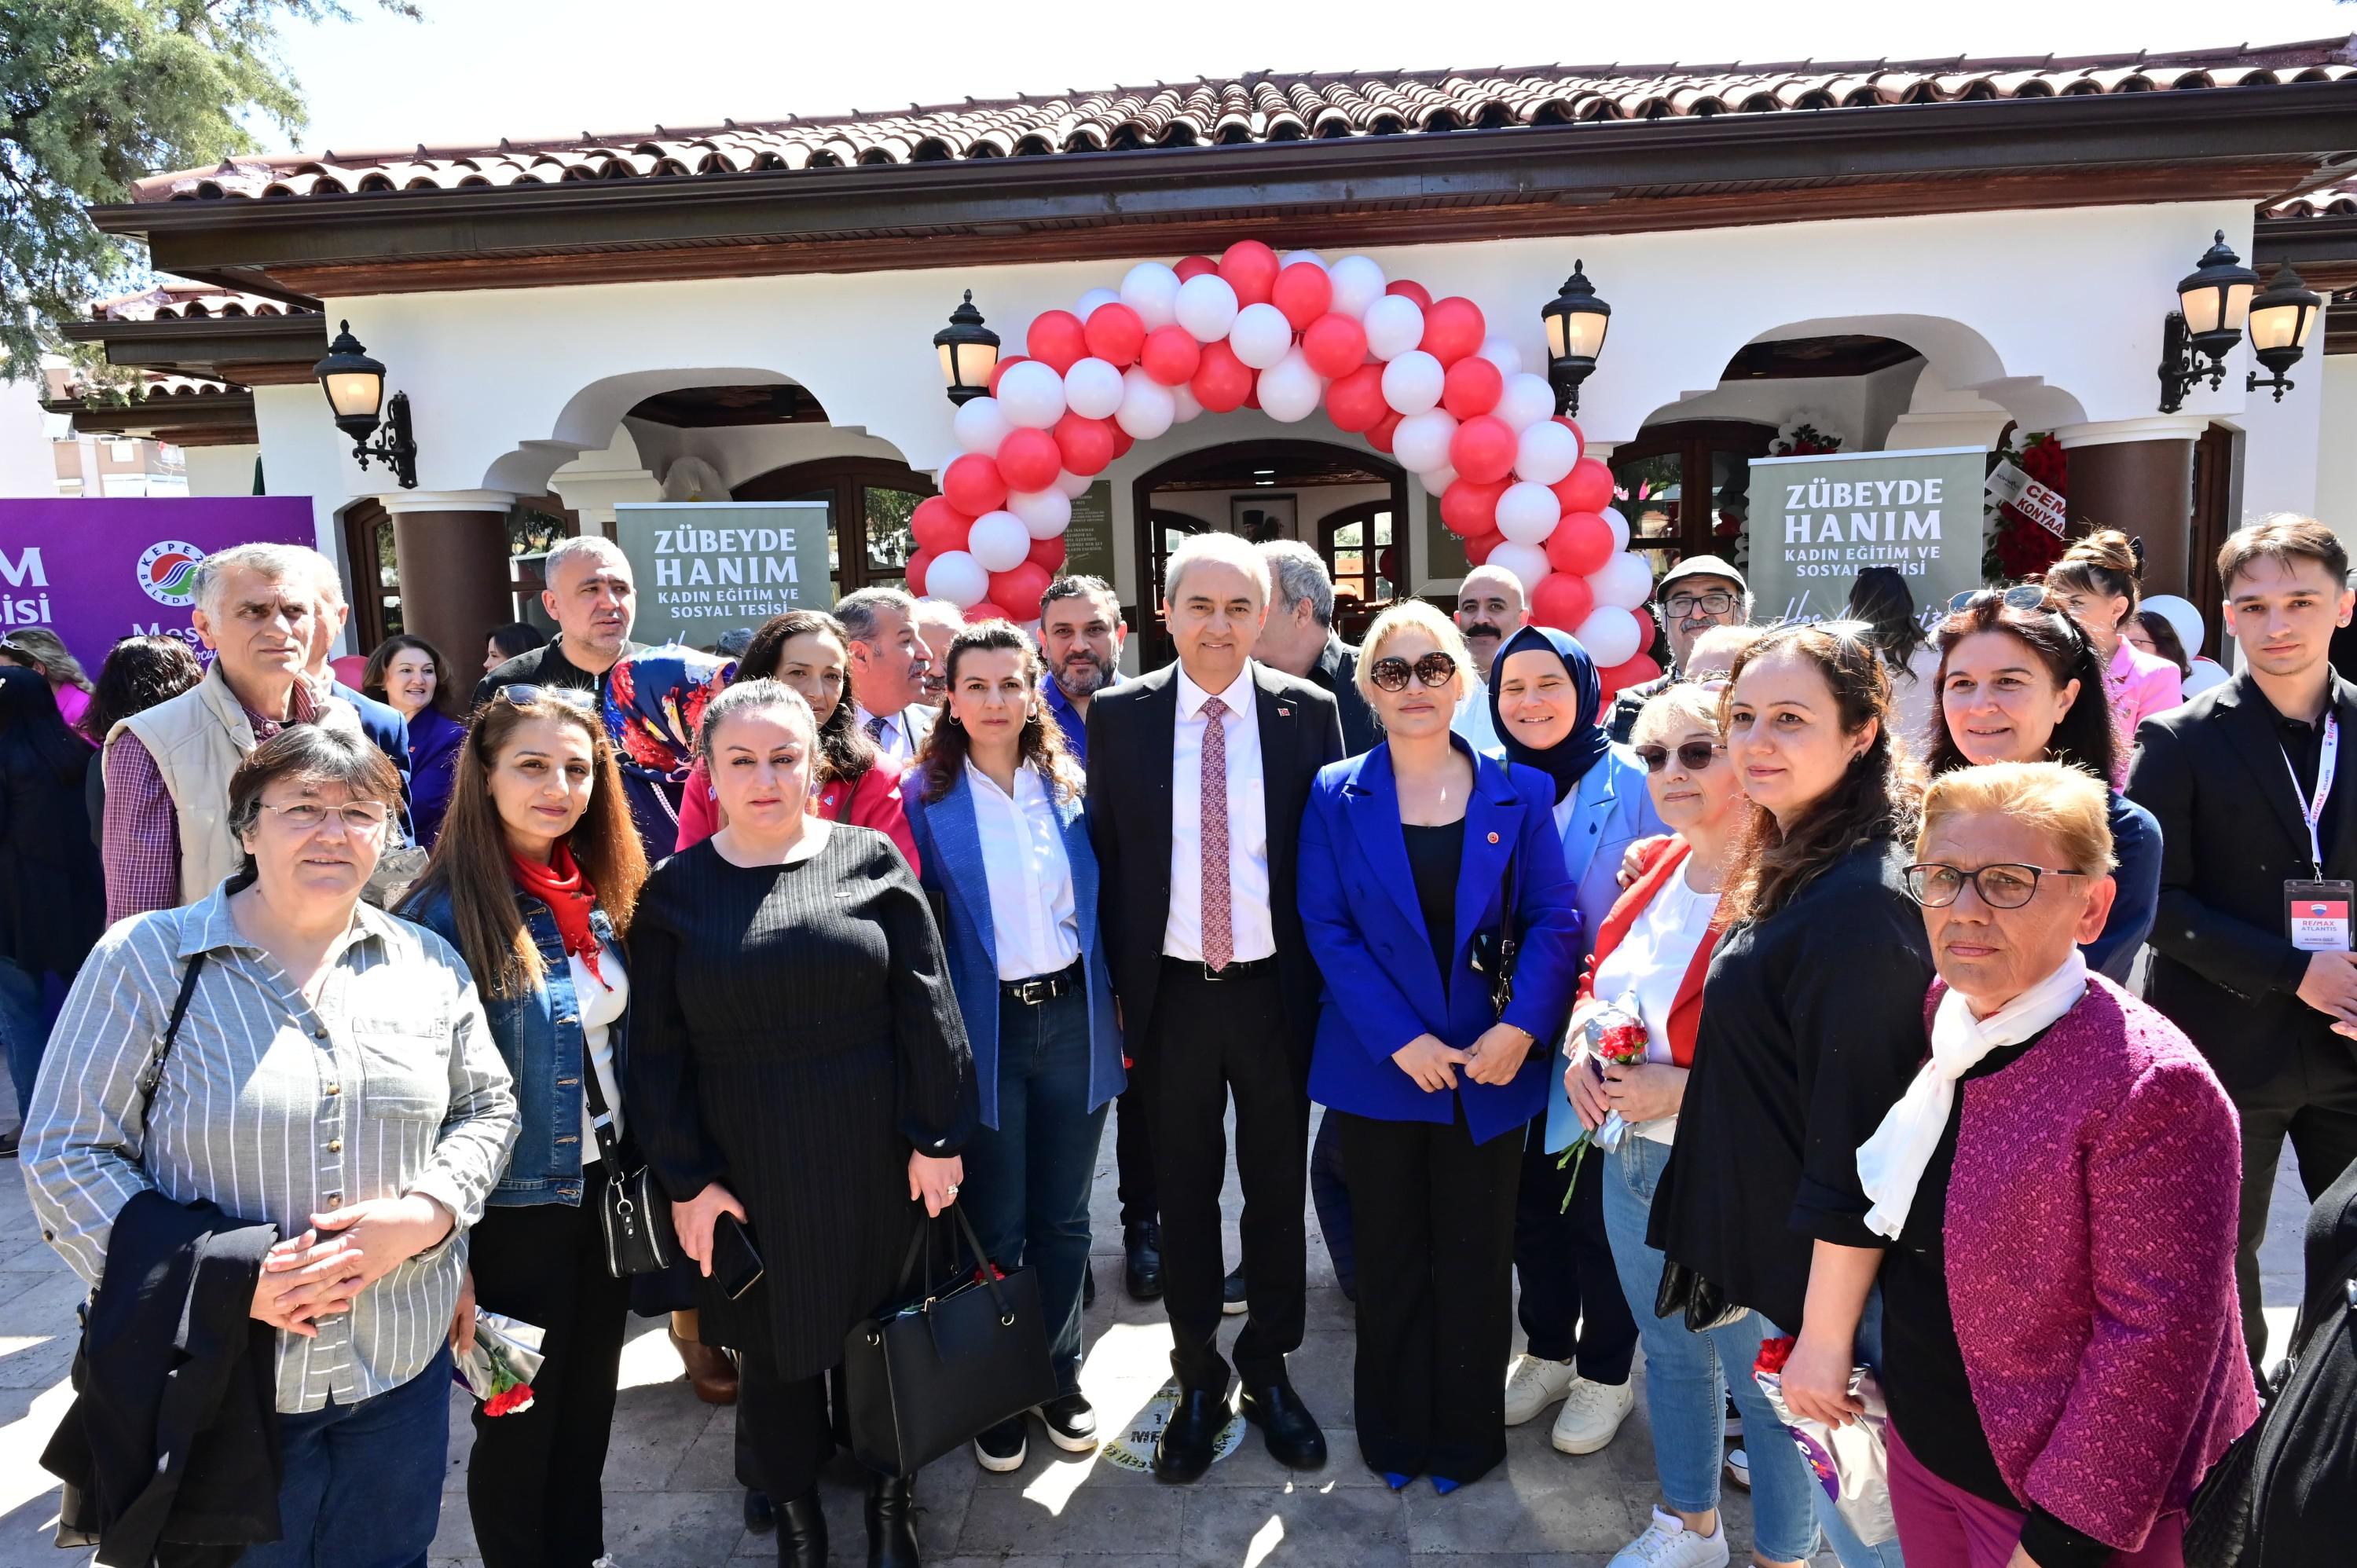
{"label": "black suit jacket of the young man with lanyard badge", "polygon": [[[2357,740],[2357,686],[2333,677]],[[2308,955],[2284,934],[2284,882],[2315,875],[2272,707],[2249,672],[2145,719],[2128,799],[2161,823],[2161,903],[2147,1000],[2209,1056],[2232,1094],[2293,1070],[2331,1019],[2298,995]],[[2357,788],[2348,764],[2336,790]],[[2324,875],[2357,879],[2357,811],[2341,806]]]}

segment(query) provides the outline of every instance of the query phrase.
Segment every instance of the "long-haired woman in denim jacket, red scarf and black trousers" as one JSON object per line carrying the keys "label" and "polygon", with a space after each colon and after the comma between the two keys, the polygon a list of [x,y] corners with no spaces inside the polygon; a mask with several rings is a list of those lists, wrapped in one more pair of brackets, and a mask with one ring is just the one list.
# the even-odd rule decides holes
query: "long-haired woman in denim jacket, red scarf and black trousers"
{"label": "long-haired woman in denim jacket, red scarf and black trousers", "polygon": [[606,1556],[599,1481],[629,1283],[606,1266],[601,1212],[629,1137],[622,936],[641,882],[592,693],[500,686],[464,733],[434,858],[401,905],[467,960],[516,1080],[516,1146],[474,1228],[450,1335],[464,1349],[481,1304],[542,1327],[547,1363],[530,1410],[474,1412],[467,1504],[483,1568]]}

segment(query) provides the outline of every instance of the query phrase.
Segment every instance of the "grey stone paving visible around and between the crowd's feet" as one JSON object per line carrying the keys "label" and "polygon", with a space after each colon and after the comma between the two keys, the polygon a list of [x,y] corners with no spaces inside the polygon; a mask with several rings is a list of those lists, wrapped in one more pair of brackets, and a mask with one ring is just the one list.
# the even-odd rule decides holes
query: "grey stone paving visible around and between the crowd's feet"
{"label": "grey stone paving visible around and between the crowd's feet", "polygon": [[[1228,1181],[1228,1254],[1240,1198]],[[2277,1181],[2265,1266],[2275,1335],[2300,1290],[2305,1200],[2286,1155]],[[1117,1431],[1169,1375],[1169,1330],[1157,1304],[1122,1294],[1113,1127],[1098,1160],[1098,1297],[1089,1311],[1084,1389],[1105,1431]],[[1428,1483],[1391,1493],[1358,1460],[1351,1434],[1351,1304],[1310,1231],[1308,1339],[1294,1382],[1322,1419],[1332,1460],[1296,1476],[1273,1464],[1254,1431],[1197,1485],[1162,1485],[1103,1457],[1056,1450],[1032,1424],[1030,1460],[985,1476],[950,1455],[917,1481],[919,1540],[929,1568],[1605,1568],[1633,1537],[1657,1493],[1645,1401],[1598,1455],[1565,1457],[1546,1443],[1549,1417],[1508,1434],[1508,1460],[1478,1485],[1435,1497]],[[40,1450],[68,1403],[75,1278],[40,1243],[24,1186],[0,1170],[0,1568],[82,1568],[57,1551],[57,1483]],[[1228,1335],[1242,1318],[1230,1318]],[[1643,1379],[1643,1365],[1638,1370]],[[1643,1382],[1638,1384],[1643,1391]],[[450,1403],[450,1476],[434,1568],[478,1568],[467,1523],[467,1401]],[[606,1544],[618,1568],[714,1568],[775,1561],[773,1537],[747,1535],[731,1478],[735,1417],[695,1401],[660,1323],[636,1323],[622,1358],[613,1455],[606,1464]],[[865,1533],[856,1483],[830,1478],[825,1507],[834,1556],[860,1561]],[[1751,1518],[1728,1488],[1735,1561],[1747,1561]],[[1831,1566],[1831,1556],[1820,1563]]]}

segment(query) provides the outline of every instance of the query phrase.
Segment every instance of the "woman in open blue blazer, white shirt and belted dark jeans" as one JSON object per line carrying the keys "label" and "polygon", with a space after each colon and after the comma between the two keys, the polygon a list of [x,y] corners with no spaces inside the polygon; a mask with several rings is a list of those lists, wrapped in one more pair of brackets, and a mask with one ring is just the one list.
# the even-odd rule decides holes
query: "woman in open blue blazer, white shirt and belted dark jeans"
{"label": "woman in open blue blazer, white shirt and belted dark jeans", "polygon": [[[1039,1276],[1061,1396],[1049,1438],[1096,1448],[1080,1394],[1080,1297],[1089,1186],[1105,1103],[1122,1092],[1122,1035],[1096,924],[1096,854],[1082,773],[1039,698],[1039,655],[1004,620],[962,630],[950,693],[903,785],[924,887],[973,1042],[983,1129],[966,1144],[962,1200],[1002,1269]],[[1023,1464],[1016,1415],[973,1441],[983,1469]]]}

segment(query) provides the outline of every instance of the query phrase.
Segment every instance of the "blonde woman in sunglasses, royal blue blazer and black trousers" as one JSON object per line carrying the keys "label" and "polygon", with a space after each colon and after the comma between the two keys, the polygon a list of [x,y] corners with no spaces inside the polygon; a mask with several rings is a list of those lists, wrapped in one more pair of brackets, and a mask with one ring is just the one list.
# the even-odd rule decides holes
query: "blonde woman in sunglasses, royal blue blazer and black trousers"
{"label": "blonde woman in sunglasses, royal blue blazer and black trousers", "polygon": [[[1341,1118],[1358,1221],[1358,1448],[1440,1493],[1506,1457],[1516,1174],[1579,981],[1546,773],[1450,736],[1471,667],[1440,611],[1376,618],[1358,681],[1388,738],[1318,773],[1299,872],[1325,976],[1310,1099]],[[1475,969],[1499,938],[1520,948],[1504,1014]]]}

